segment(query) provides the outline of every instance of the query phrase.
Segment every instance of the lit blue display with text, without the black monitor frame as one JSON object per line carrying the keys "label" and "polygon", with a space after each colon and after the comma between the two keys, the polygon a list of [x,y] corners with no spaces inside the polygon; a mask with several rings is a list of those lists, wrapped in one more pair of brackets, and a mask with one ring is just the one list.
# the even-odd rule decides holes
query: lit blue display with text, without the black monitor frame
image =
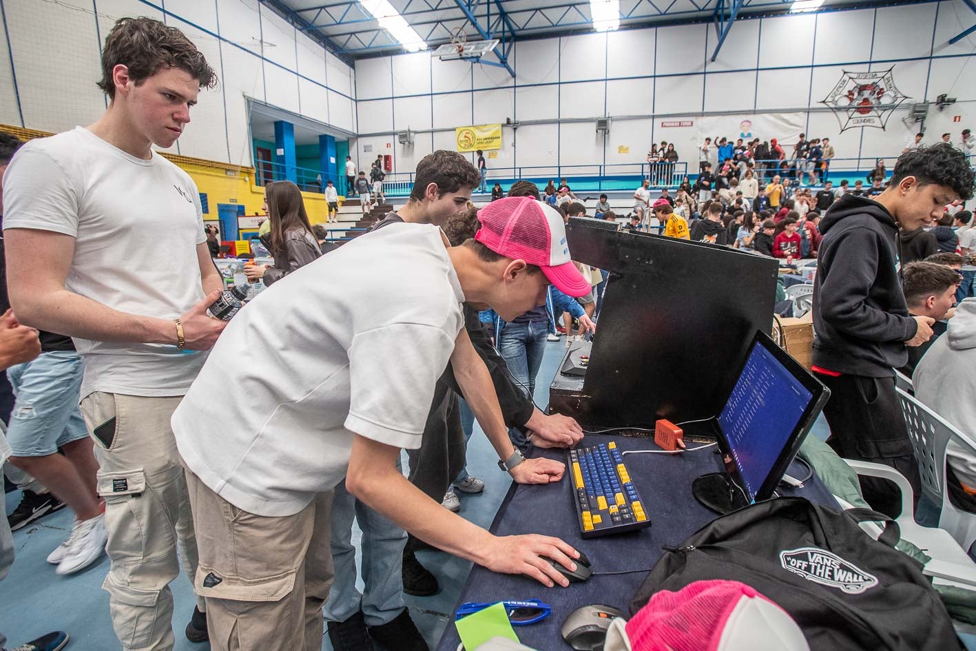
{"label": "lit blue display with text, without the black monitor frame", "polygon": [[813,394],[759,342],[718,417],[752,502]]}

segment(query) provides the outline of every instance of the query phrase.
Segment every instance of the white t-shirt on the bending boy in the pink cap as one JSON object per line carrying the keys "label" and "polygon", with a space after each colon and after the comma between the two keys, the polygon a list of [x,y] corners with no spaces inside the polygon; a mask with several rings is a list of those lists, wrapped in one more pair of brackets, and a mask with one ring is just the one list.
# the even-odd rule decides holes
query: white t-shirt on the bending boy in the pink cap
{"label": "white t-shirt on the bending boy in the pink cap", "polygon": [[292,271],[234,316],[174,413],[184,463],[281,516],[343,480],[353,432],[419,448],[464,300],[433,225],[389,224]]}

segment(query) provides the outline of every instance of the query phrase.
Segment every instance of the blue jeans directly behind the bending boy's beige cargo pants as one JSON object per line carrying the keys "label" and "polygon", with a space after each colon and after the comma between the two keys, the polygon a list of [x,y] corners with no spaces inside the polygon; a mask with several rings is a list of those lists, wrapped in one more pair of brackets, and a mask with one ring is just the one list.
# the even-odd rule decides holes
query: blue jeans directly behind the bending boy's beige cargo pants
{"label": "blue jeans directly behind the bending boy's beige cargo pants", "polygon": [[[400,468],[400,463],[396,463]],[[362,530],[362,571],[365,588],[356,589],[356,549],[352,518]],[[332,502],[332,562],[335,579],[325,604],[328,622],[345,622],[362,610],[366,626],[388,624],[407,607],[403,600],[403,546],[407,534],[392,520],[356,500],[346,480],[336,486]]]}

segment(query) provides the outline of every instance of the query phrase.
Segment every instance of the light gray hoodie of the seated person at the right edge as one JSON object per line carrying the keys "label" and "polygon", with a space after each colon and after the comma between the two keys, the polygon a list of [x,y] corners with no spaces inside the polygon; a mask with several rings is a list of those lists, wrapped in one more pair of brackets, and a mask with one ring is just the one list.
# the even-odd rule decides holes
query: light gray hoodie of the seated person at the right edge
{"label": "light gray hoodie of the seated person at the right edge", "polygon": [[[976,298],[964,299],[949,330],[915,367],[915,397],[961,433],[976,439]],[[959,481],[976,488],[976,456],[953,441],[946,450]]]}

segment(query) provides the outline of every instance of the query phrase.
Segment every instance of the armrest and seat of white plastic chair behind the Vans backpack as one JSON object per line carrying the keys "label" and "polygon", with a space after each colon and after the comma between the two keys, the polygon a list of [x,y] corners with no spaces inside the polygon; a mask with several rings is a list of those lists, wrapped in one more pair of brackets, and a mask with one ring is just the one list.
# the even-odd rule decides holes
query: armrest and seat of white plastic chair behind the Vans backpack
{"label": "armrest and seat of white plastic chair behind the Vans backpack", "polygon": [[[932,577],[933,582],[941,585],[967,590],[976,589],[976,563],[972,561],[965,549],[959,547],[948,531],[942,528],[923,527],[915,522],[913,515],[915,493],[905,475],[890,466],[851,459],[844,459],[844,461],[859,475],[889,479],[898,486],[902,497],[902,512],[895,521],[901,530],[901,537],[931,557],[922,570],[926,576]],[[836,499],[844,509],[851,507],[840,498]],[[874,522],[862,522],[861,528],[874,539],[881,534],[881,527]]]}

